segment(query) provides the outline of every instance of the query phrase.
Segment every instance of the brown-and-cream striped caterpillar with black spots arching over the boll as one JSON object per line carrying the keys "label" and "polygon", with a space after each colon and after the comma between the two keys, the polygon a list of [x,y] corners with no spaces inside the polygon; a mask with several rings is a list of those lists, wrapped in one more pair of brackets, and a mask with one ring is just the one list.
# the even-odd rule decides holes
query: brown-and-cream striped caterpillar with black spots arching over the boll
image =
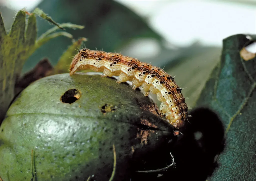
{"label": "brown-and-cream striped caterpillar with black spots arching over the boll", "polygon": [[69,74],[87,69],[103,72],[102,77],[118,76],[117,83],[131,81],[132,88],[141,87],[145,96],[149,93],[156,94],[161,101],[159,109],[165,114],[166,120],[175,128],[185,125],[188,107],[181,93],[182,89],[163,69],[118,53],[85,48],[73,57]]}

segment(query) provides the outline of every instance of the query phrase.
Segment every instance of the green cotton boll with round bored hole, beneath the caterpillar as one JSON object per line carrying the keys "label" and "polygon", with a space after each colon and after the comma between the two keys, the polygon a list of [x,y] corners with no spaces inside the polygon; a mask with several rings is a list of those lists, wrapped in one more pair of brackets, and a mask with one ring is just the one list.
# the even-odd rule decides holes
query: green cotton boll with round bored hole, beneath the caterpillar
{"label": "green cotton boll with round bored hole, beneath the caterpillar", "polygon": [[166,167],[176,137],[156,110],[139,90],[97,74],[39,79],[13,101],[0,127],[0,176],[130,180],[136,171]]}

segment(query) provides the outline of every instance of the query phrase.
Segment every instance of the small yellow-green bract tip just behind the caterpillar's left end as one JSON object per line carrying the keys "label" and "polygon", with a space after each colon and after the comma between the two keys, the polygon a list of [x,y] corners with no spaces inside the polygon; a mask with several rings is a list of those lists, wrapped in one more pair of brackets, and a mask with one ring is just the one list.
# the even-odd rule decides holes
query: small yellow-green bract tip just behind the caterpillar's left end
{"label": "small yellow-green bract tip just behind the caterpillar's left end", "polygon": [[86,38],[79,38],[76,42],[68,47],[68,49],[62,54],[57,65],[54,67],[54,74],[68,73],[70,59],[75,56],[82,43],[86,41]]}

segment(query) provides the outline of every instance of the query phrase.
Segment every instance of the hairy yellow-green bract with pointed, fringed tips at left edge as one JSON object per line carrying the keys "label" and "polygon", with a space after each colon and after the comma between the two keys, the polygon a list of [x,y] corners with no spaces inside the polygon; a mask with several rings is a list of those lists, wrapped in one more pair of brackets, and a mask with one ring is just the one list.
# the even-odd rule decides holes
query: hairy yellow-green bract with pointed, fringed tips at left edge
{"label": "hairy yellow-green bract with pointed, fringed tips at left edge", "polygon": [[[37,12],[38,13],[38,12]],[[42,14],[43,12],[40,11]],[[26,14],[29,15],[26,26]],[[46,20],[49,17],[42,16]],[[53,22],[53,21],[51,21]],[[54,23],[54,22],[53,22]],[[55,23],[56,24],[56,23]],[[34,53],[42,44],[50,39],[64,35],[70,38],[73,36],[67,32],[56,32],[41,37],[37,37],[35,14],[29,14],[25,9],[18,11],[9,34],[6,33],[3,18],[0,16],[0,122],[5,116],[12,98],[14,97],[14,85],[19,77],[23,64],[27,58]],[[59,26],[59,25],[58,25]],[[78,25],[69,24],[68,27],[81,28]],[[61,28],[61,27],[60,27]],[[56,29],[54,29],[56,30]],[[36,59],[35,59],[36,60]],[[35,61],[34,62],[37,62]],[[37,59],[39,60],[39,59]]]}

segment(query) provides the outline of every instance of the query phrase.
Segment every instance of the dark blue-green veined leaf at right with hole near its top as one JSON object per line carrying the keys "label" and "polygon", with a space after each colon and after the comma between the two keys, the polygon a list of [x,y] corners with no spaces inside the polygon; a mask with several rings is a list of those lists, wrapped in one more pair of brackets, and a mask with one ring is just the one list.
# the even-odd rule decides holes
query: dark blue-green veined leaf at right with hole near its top
{"label": "dark blue-green veined leaf at right with hole near its top", "polygon": [[255,40],[255,36],[249,40],[243,34],[223,40],[221,61],[197,101],[198,107],[215,111],[226,130],[225,149],[217,159],[219,167],[209,180],[256,178],[256,58],[245,61],[240,57],[240,50]]}

